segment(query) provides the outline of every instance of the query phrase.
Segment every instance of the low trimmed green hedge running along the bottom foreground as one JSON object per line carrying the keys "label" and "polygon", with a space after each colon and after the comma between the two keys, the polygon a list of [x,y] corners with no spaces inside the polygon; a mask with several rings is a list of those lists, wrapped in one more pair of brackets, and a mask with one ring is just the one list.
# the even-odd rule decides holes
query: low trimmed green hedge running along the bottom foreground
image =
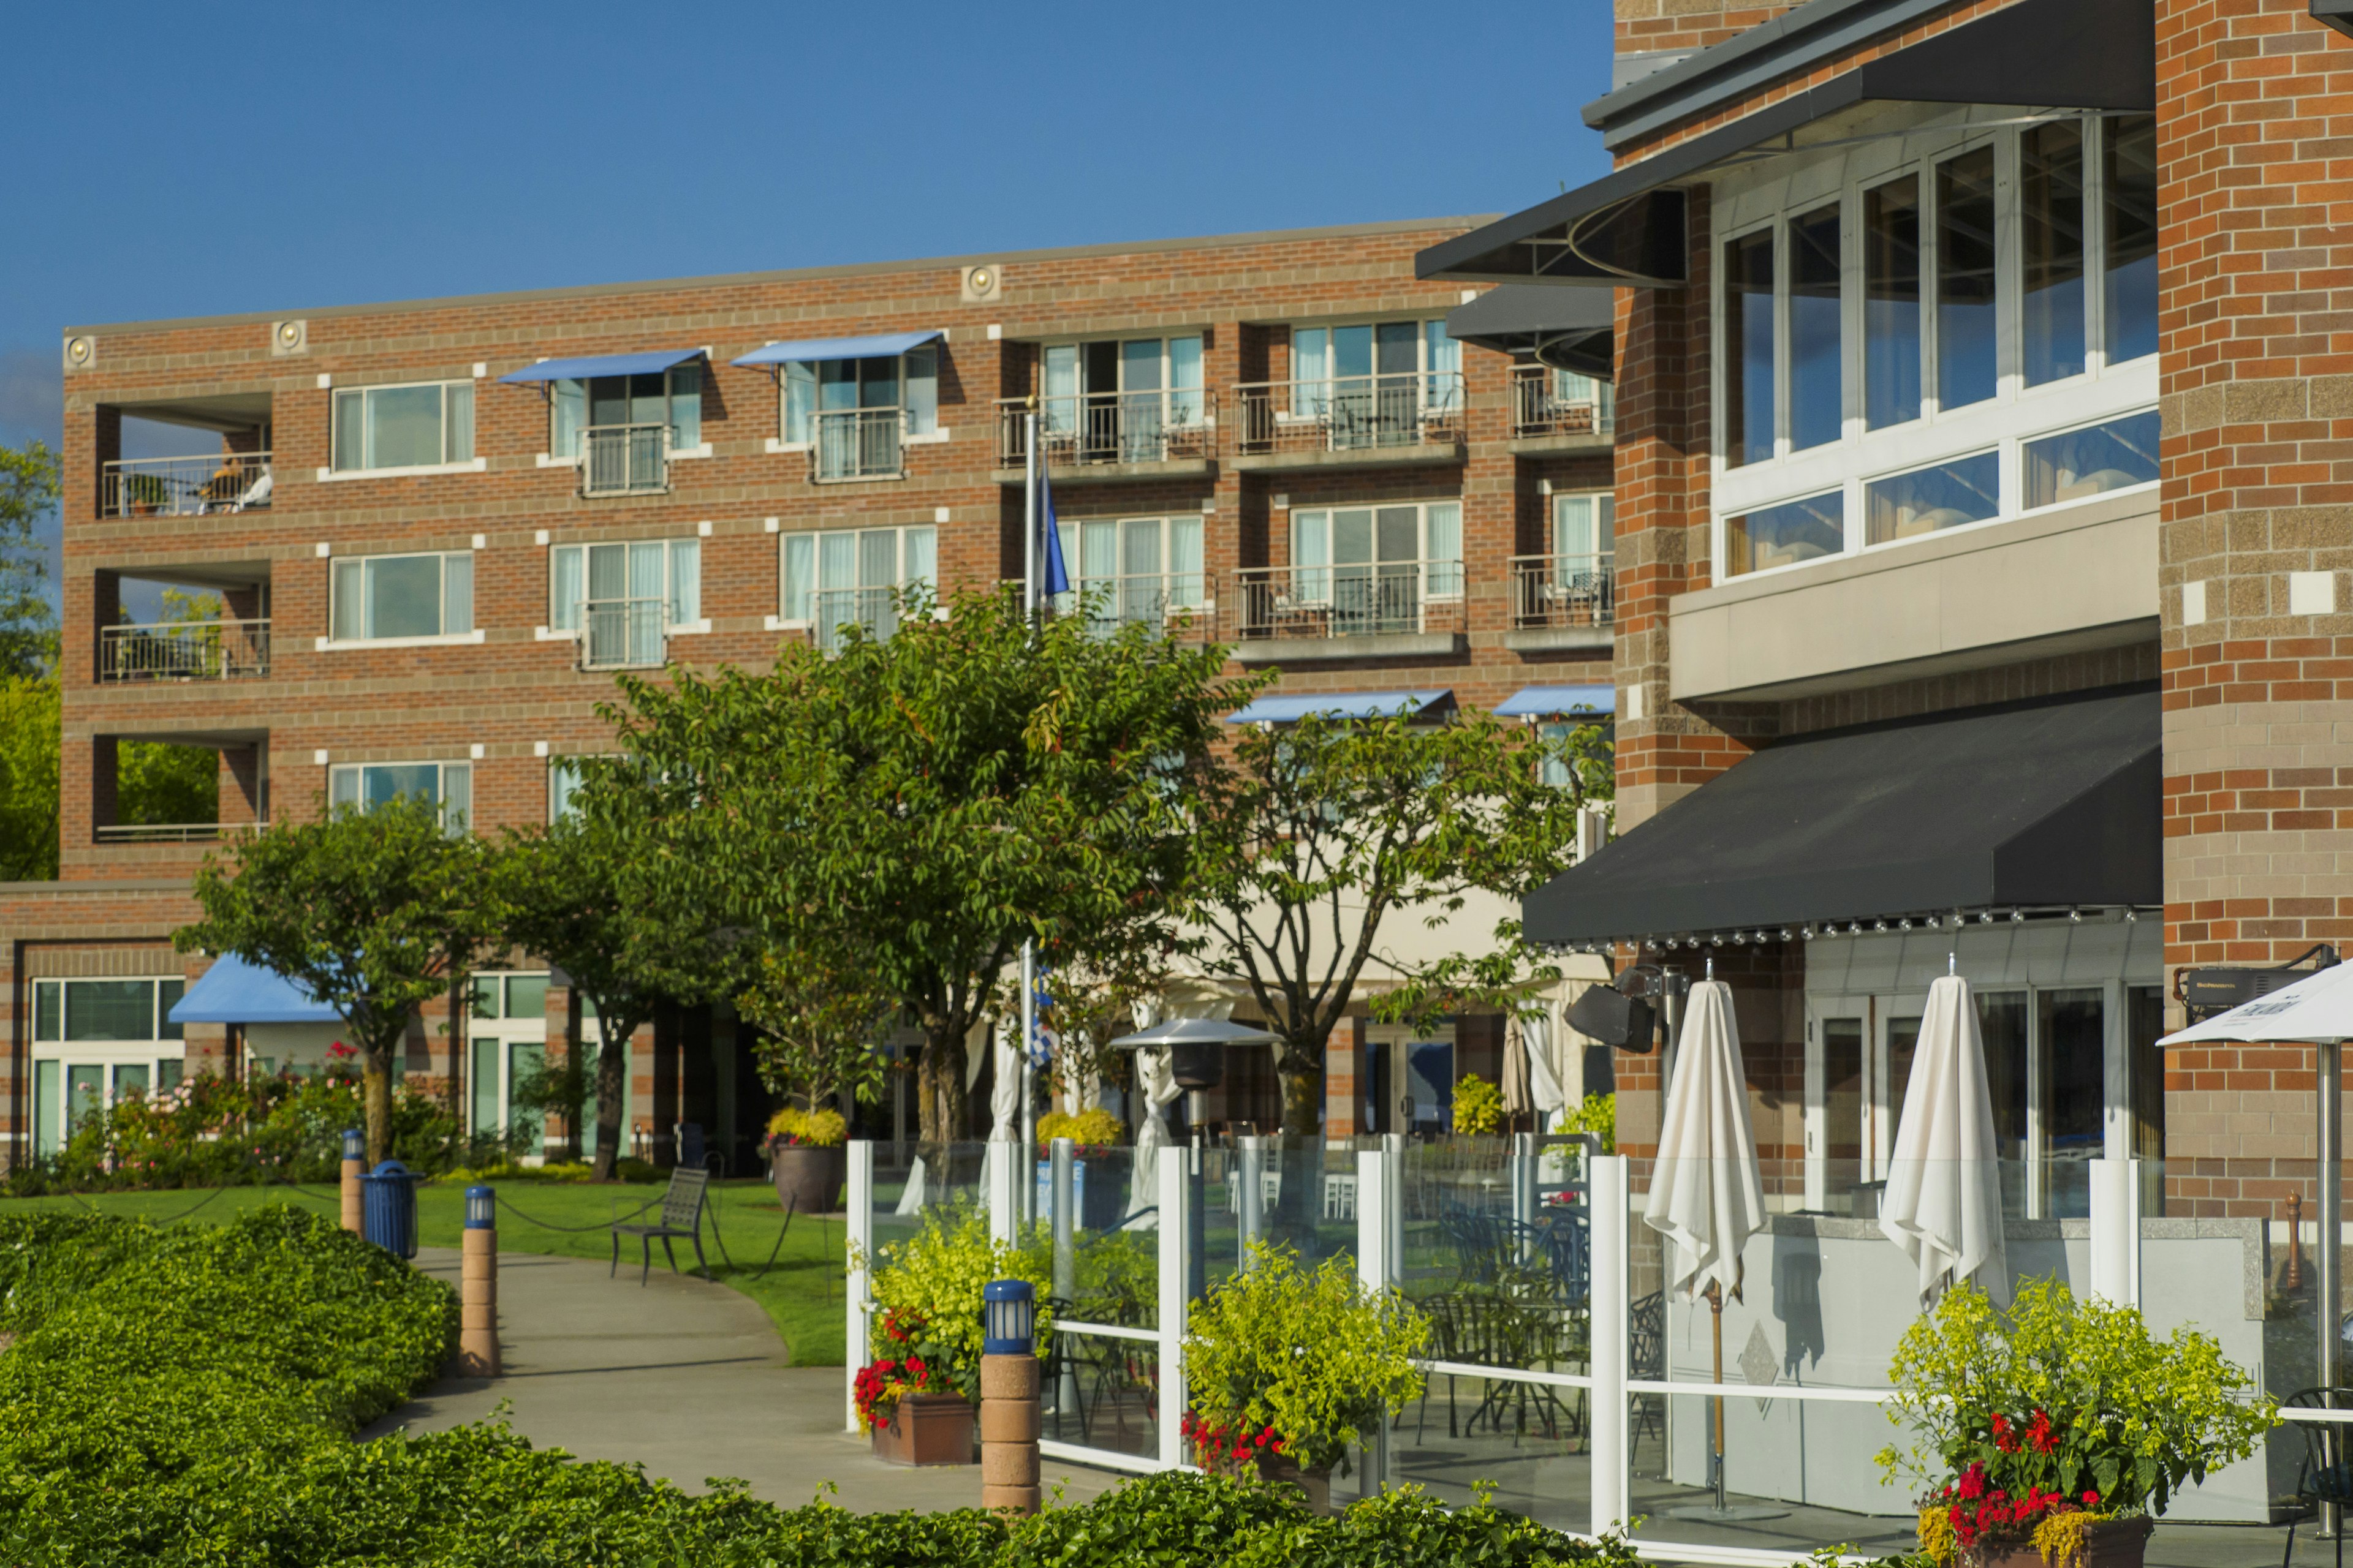
{"label": "low trimmed green hedge running along the bottom foreground", "polygon": [[0,1333],[12,1568],[1633,1568],[1624,1542],[1414,1490],[1311,1519],[1287,1490],[1162,1474],[1007,1526],[696,1497],[499,1425],[355,1443],[433,1378],[456,1298],[294,1208],[0,1218]]}

